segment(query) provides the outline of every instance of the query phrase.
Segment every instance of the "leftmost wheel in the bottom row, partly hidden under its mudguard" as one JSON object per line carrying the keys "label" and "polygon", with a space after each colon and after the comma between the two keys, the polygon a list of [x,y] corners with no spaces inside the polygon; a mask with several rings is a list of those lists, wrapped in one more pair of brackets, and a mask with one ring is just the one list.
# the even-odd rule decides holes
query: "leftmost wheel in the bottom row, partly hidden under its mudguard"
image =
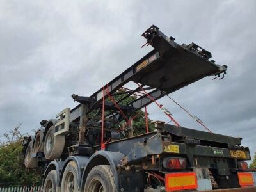
{"label": "leftmost wheel in the bottom row, partly hidden under its mudguard", "polygon": [[43,192],[56,192],[57,188],[57,171],[51,170],[48,173],[43,186]]}

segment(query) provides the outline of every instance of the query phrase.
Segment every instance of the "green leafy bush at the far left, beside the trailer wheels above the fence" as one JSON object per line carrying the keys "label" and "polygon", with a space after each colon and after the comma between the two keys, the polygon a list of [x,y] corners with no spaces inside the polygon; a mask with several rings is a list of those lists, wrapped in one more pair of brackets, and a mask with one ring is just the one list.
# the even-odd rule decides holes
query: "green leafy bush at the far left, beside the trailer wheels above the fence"
{"label": "green leafy bush at the far left, beside the trailer wheels above the fence", "polygon": [[40,170],[27,170],[22,165],[22,137],[18,124],[4,134],[6,141],[0,143],[0,185],[38,184],[41,180]]}

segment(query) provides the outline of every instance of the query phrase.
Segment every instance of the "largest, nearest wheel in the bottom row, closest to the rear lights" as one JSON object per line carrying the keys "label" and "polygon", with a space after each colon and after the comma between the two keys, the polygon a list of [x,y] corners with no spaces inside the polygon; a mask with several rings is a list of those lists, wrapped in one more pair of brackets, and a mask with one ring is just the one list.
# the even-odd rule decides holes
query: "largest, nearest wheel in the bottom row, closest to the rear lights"
{"label": "largest, nearest wheel in the bottom row, closest to the rear lights", "polygon": [[109,165],[95,166],[88,174],[84,186],[84,192],[95,191],[116,191],[115,180]]}

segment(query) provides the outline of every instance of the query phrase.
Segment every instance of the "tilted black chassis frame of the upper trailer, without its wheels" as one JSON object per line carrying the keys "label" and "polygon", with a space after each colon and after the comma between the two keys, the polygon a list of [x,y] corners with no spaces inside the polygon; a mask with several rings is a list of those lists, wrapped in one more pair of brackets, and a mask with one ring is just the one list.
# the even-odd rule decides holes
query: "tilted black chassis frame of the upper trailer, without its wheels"
{"label": "tilted black chassis frame of the upper trailer, without its wheels", "polygon": [[[179,90],[203,77],[220,76],[221,73],[224,77],[226,73],[226,65],[216,65],[215,61],[209,61],[211,58],[210,52],[194,43],[179,45],[174,42],[174,38],[164,35],[154,25],[148,28],[142,36],[147,39],[148,45],[154,47],[154,50],[90,97],[72,95],[74,101],[80,104],[72,110],[67,108],[57,115],[61,121],[55,125],[55,135],[67,133],[69,123],[80,118],[79,143],[84,143],[84,132],[91,122],[90,120],[87,122],[86,118],[93,118],[88,115],[95,109],[99,110],[97,115],[102,113],[103,108],[105,110],[111,109],[113,113],[105,115],[104,118],[107,120],[117,118],[118,121],[126,120],[128,122],[128,118],[131,118],[134,112],[155,102],[164,95]],[[123,86],[130,81],[138,84],[138,88],[124,92]],[[141,91],[143,92],[142,95]],[[127,97],[138,92],[141,97],[132,100],[128,104],[120,104]],[[115,101],[112,97],[115,94],[125,94],[125,96]],[[109,97],[111,101],[107,101],[106,97]],[[102,104],[103,99],[104,104]],[[102,120],[104,121],[104,119]]]}

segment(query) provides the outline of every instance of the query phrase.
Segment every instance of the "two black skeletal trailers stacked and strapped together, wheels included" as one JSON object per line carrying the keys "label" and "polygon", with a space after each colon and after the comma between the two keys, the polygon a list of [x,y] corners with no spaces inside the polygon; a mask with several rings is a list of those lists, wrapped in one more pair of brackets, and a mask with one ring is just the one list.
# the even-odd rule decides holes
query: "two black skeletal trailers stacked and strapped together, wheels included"
{"label": "two black skeletal trailers stacked and strapped together, wheels included", "polygon": [[[181,127],[157,102],[206,76],[222,79],[227,66],[209,60],[211,52],[194,43],[177,44],[154,25],[142,36],[153,51],[90,97],[72,95],[79,103],[74,109],[42,120],[35,137],[25,138],[26,168],[44,169],[44,191],[255,191],[241,138]],[[152,102],[175,125],[153,122],[155,131],[148,132],[146,111],[147,132],[133,136],[133,118]]]}

